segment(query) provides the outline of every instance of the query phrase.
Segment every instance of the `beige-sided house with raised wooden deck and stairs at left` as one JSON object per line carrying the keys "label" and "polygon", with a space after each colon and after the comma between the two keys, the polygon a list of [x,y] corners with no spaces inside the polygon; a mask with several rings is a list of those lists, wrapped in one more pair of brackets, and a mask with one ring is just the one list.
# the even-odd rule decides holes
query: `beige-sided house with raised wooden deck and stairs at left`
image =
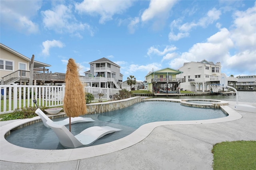
{"label": "beige-sided house with raised wooden deck and stairs at left", "polygon": [[[30,80],[31,59],[0,43],[0,84],[27,85]],[[63,83],[65,76],[49,73],[50,64],[34,61],[33,84]]]}

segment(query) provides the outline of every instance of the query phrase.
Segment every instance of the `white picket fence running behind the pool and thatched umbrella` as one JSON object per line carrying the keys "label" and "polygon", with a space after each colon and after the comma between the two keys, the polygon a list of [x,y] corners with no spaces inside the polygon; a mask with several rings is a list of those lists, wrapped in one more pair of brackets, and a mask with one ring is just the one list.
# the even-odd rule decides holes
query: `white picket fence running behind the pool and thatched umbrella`
{"label": "white picket fence running behind the pool and thatched umbrella", "polygon": [[[11,113],[16,108],[36,106],[33,100],[37,101],[38,106],[62,106],[65,94],[65,85],[62,86],[26,86],[26,85],[0,85],[1,100],[0,114]],[[85,87],[85,92],[94,95],[92,102],[98,102],[102,93],[101,100],[111,100],[110,96],[118,94],[120,89]]]}

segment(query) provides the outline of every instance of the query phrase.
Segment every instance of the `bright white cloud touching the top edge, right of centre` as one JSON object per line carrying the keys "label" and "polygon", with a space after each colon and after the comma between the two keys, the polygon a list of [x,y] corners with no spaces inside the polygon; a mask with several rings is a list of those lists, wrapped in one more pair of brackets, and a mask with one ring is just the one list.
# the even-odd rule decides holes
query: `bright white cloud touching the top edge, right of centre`
{"label": "bright white cloud touching the top edge, right of centre", "polygon": [[151,0],[148,9],[144,10],[141,20],[148,21],[153,18],[162,18],[167,16],[176,0]]}

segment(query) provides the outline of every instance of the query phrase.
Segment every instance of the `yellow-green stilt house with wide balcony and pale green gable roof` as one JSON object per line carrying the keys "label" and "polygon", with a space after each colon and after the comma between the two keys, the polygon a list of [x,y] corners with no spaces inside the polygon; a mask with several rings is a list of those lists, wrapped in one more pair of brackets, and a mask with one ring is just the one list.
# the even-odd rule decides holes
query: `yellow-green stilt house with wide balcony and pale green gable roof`
{"label": "yellow-green stilt house with wide balcony and pale green gable roof", "polygon": [[148,72],[145,76],[144,84],[149,91],[158,93],[176,93],[177,88],[183,81],[180,70],[164,68],[161,70]]}

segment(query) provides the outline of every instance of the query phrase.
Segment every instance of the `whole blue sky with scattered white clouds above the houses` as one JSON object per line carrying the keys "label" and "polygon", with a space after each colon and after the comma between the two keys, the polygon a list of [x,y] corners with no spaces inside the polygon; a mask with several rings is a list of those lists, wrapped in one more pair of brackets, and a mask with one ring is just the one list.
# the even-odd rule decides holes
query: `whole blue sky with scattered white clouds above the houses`
{"label": "whole blue sky with scattered white clouds above the houses", "polygon": [[144,81],[149,71],[203,59],[230,76],[256,74],[256,2],[0,0],[0,42],[66,72],[108,58]]}

